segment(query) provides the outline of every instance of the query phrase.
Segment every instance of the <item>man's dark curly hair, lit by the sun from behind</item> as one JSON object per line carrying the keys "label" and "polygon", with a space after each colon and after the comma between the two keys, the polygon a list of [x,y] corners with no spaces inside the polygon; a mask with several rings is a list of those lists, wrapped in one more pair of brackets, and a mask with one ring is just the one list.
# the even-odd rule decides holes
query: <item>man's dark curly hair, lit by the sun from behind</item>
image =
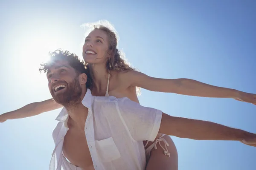
{"label": "man's dark curly hair, lit by the sun from behind", "polygon": [[55,50],[49,52],[50,59],[48,62],[41,63],[39,71],[46,73],[49,68],[56,62],[60,60],[68,61],[70,66],[73,67],[77,74],[85,73],[87,75],[86,88],[91,88],[92,79],[89,74],[89,69],[84,65],[84,61],[80,60],[75,53],[70,53],[69,51]]}

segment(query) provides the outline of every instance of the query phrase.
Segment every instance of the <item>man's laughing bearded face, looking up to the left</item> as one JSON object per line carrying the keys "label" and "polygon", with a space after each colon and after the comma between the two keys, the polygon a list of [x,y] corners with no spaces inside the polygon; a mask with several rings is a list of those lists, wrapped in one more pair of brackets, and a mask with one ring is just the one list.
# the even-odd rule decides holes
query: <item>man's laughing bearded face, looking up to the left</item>
{"label": "man's laughing bearded face, looking up to the left", "polygon": [[57,61],[47,72],[48,87],[55,102],[63,105],[76,105],[81,102],[79,75],[67,61]]}

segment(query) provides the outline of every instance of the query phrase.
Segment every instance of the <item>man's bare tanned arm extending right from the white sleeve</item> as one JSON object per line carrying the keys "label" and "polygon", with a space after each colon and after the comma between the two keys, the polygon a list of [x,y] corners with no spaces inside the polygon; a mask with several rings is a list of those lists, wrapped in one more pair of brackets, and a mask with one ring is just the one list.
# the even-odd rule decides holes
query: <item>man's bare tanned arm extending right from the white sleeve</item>
{"label": "man's bare tanned arm extending right from the white sleeve", "polygon": [[163,113],[160,133],[195,140],[230,140],[256,146],[256,135],[213,122],[169,116]]}

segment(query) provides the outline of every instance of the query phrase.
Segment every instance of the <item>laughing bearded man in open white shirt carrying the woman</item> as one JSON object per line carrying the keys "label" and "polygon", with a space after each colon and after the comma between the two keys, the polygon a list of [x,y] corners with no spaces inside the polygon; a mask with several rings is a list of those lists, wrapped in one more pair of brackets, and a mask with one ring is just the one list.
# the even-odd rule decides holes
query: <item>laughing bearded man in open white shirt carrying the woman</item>
{"label": "laughing bearded man in open white shirt carrying the woman", "polygon": [[51,61],[41,66],[47,72],[52,98],[64,106],[53,131],[50,169],[56,164],[57,170],[144,170],[142,141],[154,141],[158,132],[256,146],[256,135],[244,130],[169,116],[128,98],[92,96],[84,64],[68,51],[53,52]]}

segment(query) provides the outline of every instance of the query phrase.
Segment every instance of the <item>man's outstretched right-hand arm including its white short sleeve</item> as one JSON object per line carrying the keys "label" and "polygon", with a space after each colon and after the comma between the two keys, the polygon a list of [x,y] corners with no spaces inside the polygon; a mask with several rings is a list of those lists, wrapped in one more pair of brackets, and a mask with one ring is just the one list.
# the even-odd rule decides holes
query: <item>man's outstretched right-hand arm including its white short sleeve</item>
{"label": "man's outstretched right-hand arm including its white short sleeve", "polygon": [[195,140],[240,141],[256,147],[256,135],[213,122],[169,116],[141,106],[128,98],[118,99],[118,108],[131,136],[137,141],[154,141],[157,133]]}

